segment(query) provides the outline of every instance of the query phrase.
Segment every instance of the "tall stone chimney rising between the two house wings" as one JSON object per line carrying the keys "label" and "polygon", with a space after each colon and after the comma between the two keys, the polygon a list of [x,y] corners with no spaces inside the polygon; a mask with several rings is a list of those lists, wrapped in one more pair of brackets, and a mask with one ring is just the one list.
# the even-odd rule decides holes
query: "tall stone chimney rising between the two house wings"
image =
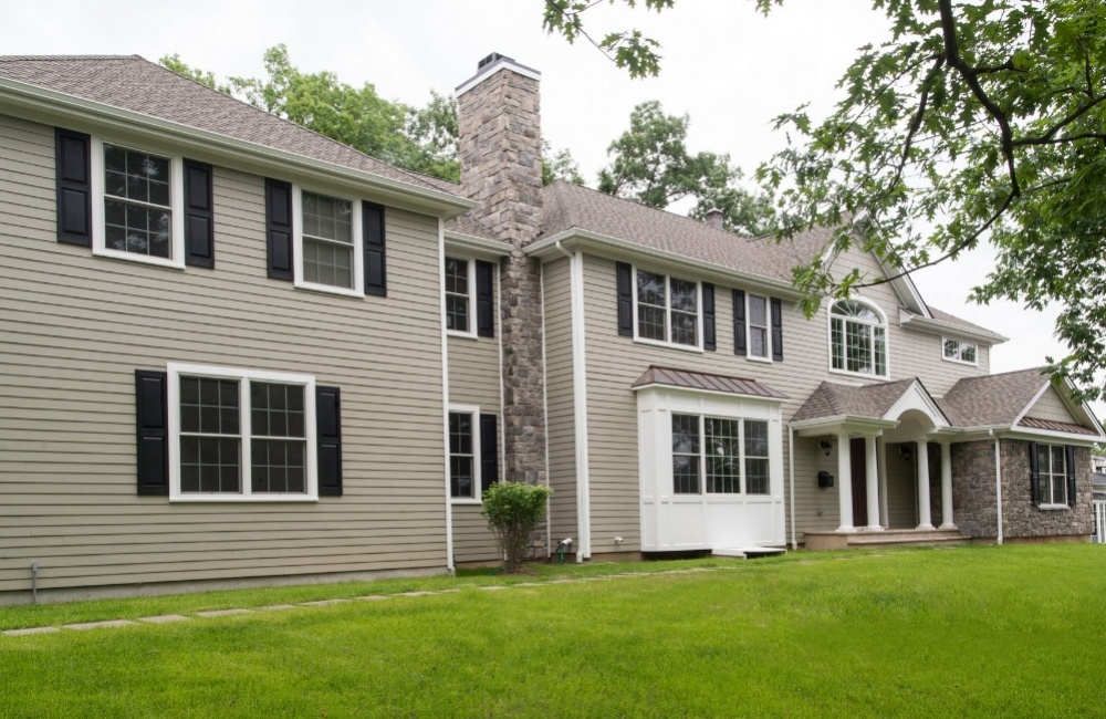
{"label": "tall stone chimney rising between the two house wings", "polygon": [[504,477],[546,483],[541,268],[522,252],[541,231],[541,73],[498,53],[457,88],[461,186],[470,212],[513,246],[500,264]]}

